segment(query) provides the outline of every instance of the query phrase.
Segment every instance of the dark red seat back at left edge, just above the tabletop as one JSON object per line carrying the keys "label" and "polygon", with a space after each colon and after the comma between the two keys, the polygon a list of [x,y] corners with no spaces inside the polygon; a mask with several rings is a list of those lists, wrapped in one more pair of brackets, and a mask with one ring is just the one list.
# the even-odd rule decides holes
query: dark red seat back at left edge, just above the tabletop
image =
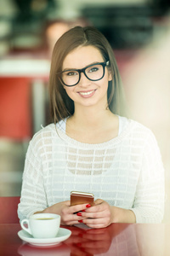
{"label": "dark red seat back at left edge, just above the tabletop", "polygon": [[0,197],[0,224],[19,224],[17,209],[20,196]]}

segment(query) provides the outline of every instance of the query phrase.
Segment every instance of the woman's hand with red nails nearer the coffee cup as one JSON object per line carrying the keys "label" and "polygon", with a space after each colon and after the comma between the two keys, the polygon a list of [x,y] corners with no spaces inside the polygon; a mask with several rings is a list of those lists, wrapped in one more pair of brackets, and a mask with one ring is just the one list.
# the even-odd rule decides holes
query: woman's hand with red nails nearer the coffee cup
{"label": "woman's hand with red nails nearer the coffee cup", "polygon": [[[42,213],[56,213],[59,214],[61,217],[61,224],[63,225],[73,225],[73,224],[78,224],[79,220],[85,219],[78,216],[74,212],[80,212],[84,211],[87,209],[87,204],[82,204],[82,205],[77,205],[71,207],[71,201],[62,201],[57,204],[54,204],[51,207],[46,208],[45,210],[42,211]],[[35,212],[35,213],[40,213],[40,212]]]}

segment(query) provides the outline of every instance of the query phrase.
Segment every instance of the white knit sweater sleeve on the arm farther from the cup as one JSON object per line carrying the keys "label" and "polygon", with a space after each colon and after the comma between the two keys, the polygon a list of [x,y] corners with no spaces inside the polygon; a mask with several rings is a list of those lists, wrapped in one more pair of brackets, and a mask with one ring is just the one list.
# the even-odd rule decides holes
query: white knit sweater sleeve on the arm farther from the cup
{"label": "white knit sweater sleeve on the arm farther from the cup", "polygon": [[164,215],[164,168],[156,138],[145,138],[143,160],[132,211],[137,223],[161,223]]}

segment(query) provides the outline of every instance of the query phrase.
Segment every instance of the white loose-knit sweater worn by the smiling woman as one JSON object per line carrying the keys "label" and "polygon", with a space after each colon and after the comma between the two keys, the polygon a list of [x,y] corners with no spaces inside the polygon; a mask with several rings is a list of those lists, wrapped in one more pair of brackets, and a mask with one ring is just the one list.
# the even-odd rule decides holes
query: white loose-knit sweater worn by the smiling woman
{"label": "white loose-knit sweater worn by the smiling woman", "polygon": [[111,206],[133,210],[137,223],[160,223],[164,169],[152,132],[119,117],[119,135],[106,143],[80,143],[65,134],[65,122],[32,138],[26,154],[20,220],[70,200],[71,190],[94,193]]}

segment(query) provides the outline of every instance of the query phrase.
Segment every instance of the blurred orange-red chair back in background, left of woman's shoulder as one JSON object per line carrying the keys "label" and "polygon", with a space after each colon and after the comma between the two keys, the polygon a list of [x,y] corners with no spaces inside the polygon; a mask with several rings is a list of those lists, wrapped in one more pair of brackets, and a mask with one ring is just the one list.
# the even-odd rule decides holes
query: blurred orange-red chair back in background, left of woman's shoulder
{"label": "blurred orange-red chair back in background, left of woman's shoulder", "polygon": [[30,79],[0,77],[0,108],[0,137],[31,138]]}

